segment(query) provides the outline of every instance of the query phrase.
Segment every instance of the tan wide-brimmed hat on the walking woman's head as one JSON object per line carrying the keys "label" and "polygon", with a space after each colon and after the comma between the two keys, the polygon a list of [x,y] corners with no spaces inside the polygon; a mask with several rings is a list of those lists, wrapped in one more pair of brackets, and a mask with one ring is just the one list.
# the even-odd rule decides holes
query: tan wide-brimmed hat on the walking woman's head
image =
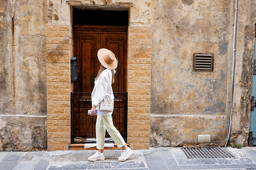
{"label": "tan wide-brimmed hat on the walking woman's head", "polygon": [[114,70],[117,68],[117,59],[115,54],[108,49],[100,49],[98,51],[98,59],[107,69]]}

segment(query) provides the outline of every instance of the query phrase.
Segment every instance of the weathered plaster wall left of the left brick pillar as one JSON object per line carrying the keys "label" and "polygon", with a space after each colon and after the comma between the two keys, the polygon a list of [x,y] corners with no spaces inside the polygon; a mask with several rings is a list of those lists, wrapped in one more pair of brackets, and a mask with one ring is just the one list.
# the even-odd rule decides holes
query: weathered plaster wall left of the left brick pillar
{"label": "weathered plaster wall left of the left brick pillar", "polygon": [[0,150],[46,149],[46,1],[0,4]]}

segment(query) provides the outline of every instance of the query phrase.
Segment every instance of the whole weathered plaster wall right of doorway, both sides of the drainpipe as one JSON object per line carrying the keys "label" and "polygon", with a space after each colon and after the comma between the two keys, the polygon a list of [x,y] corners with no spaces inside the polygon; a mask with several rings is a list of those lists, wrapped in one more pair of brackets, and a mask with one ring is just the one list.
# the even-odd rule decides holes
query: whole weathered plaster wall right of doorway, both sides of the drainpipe
{"label": "whole weathered plaster wall right of doorway, both sides of the drainpipe", "polygon": [[[238,2],[230,142],[247,145],[254,2]],[[152,10],[151,146],[224,145],[231,91],[235,1],[156,1]],[[193,53],[214,53],[214,71],[192,71]],[[160,75],[160,76],[159,76]],[[160,121],[163,121],[163,125]],[[162,135],[164,134],[164,135]]]}

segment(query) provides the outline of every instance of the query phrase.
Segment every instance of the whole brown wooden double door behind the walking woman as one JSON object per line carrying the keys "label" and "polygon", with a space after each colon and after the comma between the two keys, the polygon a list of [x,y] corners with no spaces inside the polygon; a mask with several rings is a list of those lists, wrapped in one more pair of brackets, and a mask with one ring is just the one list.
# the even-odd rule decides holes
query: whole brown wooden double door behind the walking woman
{"label": "whole brown wooden double door behind the walking woman", "polygon": [[[77,57],[77,81],[74,81],[73,91],[79,92],[83,99],[74,100],[73,133],[74,136],[96,137],[96,116],[88,116],[88,109],[92,108],[91,92],[94,79],[100,69],[97,53],[101,48],[111,50],[119,60],[116,69],[115,83],[112,89],[115,92],[126,91],[127,81],[127,27],[111,26],[73,26],[74,30],[74,57]],[[87,94],[85,94],[87,93]],[[78,101],[79,100],[79,101]],[[83,101],[84,100],[84,101]],[[113,123],[121,134],[126,133],[125,103],[115,101]]]}

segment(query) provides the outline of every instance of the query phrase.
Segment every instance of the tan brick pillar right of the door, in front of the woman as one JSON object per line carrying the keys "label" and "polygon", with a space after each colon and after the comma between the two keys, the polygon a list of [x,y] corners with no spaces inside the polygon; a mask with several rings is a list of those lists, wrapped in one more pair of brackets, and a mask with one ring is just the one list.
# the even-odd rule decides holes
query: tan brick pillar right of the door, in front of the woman
{"label": "tan brick pillar right of the door, in front of the woman", "polygon": [[149,148],[151,27],[128,29],[128,143]]}

